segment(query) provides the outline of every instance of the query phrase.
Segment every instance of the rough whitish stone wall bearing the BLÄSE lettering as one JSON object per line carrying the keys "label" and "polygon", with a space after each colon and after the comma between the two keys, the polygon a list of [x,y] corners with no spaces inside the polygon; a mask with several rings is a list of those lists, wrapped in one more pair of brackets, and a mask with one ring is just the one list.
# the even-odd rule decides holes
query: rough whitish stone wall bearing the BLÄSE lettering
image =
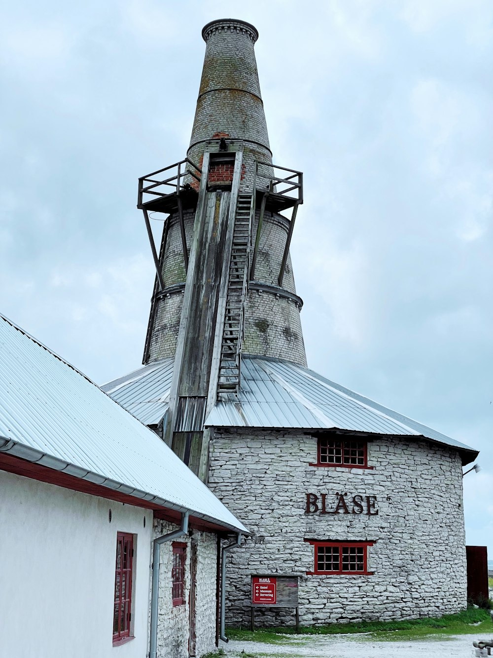
{"label": "rough whitish stone wall bearing the BL\u00c4SE lettering", "polygon": [[[462,470],[453,449],[375,436],[369,468],[323,468],[317,440],[276,430],[216,430],[209,486],[252,532],[228,565],[227,623],[245,626],[250,574],[297,573],[300,622],[411,619],[466,605]],[[306,515],[306,493],[375,495],[378,515]],[[327,503],[329,504],[329,503]],[[373,575],[307,575],[305,539],[375,542]],[[256,611],[261,624],[293,623],[291,611]]]}

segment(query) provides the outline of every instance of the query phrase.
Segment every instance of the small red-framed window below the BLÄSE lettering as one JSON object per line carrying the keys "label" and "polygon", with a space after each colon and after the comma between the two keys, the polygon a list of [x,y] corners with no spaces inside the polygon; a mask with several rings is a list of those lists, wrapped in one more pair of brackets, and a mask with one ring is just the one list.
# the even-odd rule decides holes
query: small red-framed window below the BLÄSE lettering
{"label": "small red-framed window below the BL\u00c4SE lettering", "polygon": [[314,547],[314,570],[307,574],[373,575],[368,570],[368,549],[373,542],[319,542],[305,540]]}

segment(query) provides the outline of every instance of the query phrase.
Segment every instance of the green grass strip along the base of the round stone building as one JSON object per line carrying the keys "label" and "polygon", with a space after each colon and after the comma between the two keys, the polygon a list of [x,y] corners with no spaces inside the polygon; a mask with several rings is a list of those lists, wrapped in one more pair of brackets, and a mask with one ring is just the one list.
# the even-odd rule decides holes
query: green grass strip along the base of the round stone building
{"label": "green grass strip along the base of the round stone building", "polygon": [[[473,625],[474,624],[474,625]],[[477,624],[477,625],[476,625]],[[429,635],[464,635],[477,633],[491,635],[493,630],[490,613],[481,608],[468,607],[456,615],[444,615],[438,618],[408,619],[396,621],[362,621],[351,624],[328,624],[327,626],[302,626],[303,635],[336,635],[352,633],[371,633],[372,640],[402,640],[421,638]],[[291,644],[289,635],[296,633],[291,627],[259,628],[253,632],[238,628],[229,628],[230,640],[244,642],[264,642],[266,644]]]}

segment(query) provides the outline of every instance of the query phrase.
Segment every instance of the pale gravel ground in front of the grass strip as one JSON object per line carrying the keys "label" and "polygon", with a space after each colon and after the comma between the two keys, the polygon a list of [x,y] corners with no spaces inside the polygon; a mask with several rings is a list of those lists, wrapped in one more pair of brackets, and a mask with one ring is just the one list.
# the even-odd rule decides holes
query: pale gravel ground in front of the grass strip
{"label": "pale gravel ground in front of the grass strip", "polygon": [[[240,658],[471,658],[477,635],[430,636],[426,640],[379,642],[371,634],[280,636],[282,644],[221,642],[227,656]],[[242,653],[242,651],[244,653]]]}

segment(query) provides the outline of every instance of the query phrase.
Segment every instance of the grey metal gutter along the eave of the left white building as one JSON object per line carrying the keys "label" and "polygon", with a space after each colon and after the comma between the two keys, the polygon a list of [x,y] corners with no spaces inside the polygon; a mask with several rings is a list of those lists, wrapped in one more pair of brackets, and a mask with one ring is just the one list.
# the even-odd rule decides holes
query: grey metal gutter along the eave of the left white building
{"label": "grey metal gutter along the eave of the left white building", "polygon": [[[202,512],[197,512],[193,509],[187,509],[187,507],[184,507],[183,505],[172,503],[164,498],[160,498],[157,495],[153,495],[153,493],[135,489],[128,484],[123,484],[122,482],[111,480],[110,478],[106,478],[104,475],[92,472],[86,468],[81,468],[80,466],[71,464],[70,462],[64,461],[63,459],[59,459],[59,457],[51,457],[51,455],[47,455],[47,453],[43,453],[41,450],[30,447],[30,445],[18,443],[14,440],[6,438],[5,436],[0,436],[0,453],[2,452],[9,453],[14,457],[18,457],[19,459],[25,459],[26,461],[41,464],[42,466],[51,468],[52,470],[56,470],[60,473],[65,473],[66,475],[80,478],[86,482],[91,482],[91,484],[97,484],[112,491],[118,491],[137,499],[149,501],[166,509],[174,509],[181,514],[191,513],[191,515],[197,519],[202,519],[214,525],[220,525],[223,528],[227,528],[227,530],[230,532],[240,531],[245,532],[245,534],[248,533],[247,528],[244,528],[243,526],[238,528],[237,526],[233,526],[222,520],[214,519],[214,517],[210,517]],[[138,506],[137,501],[135,504]]]}

